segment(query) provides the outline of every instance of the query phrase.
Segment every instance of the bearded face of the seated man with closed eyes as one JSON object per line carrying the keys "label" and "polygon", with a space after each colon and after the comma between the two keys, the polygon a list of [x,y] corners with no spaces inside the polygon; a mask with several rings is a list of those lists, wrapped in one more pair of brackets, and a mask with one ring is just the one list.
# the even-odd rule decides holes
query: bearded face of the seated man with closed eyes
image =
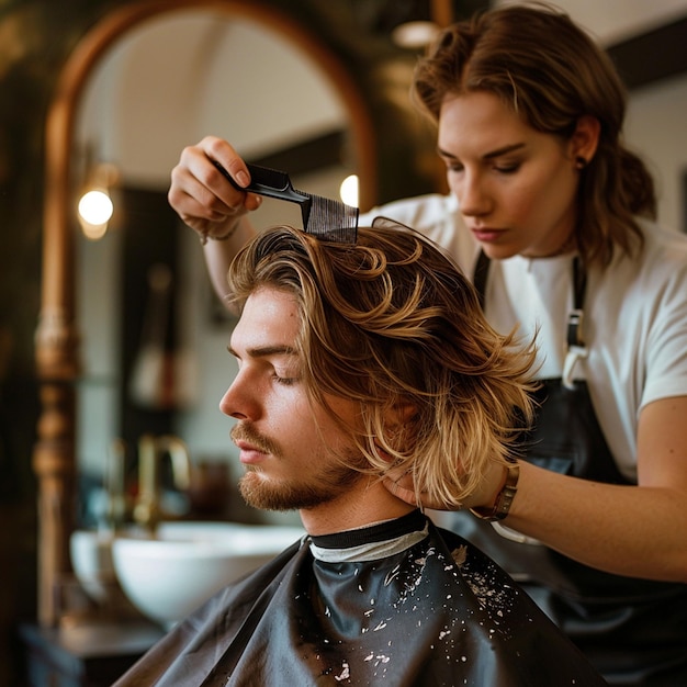
{"label": "bearded face of the seated man with closed eyes", "polygon": [[[246,468],[239,487],[257,508],[312,509],[350,497],[362,481],[337,459],[360,463],[351,438],[308,402],[294,348],[299,327],[294,297],[261,288],[249,296],[232,334],[239,370],[219,408],[237,419],[232,439]],[[328,401],[345,420],[354,418],[351,402]]]}

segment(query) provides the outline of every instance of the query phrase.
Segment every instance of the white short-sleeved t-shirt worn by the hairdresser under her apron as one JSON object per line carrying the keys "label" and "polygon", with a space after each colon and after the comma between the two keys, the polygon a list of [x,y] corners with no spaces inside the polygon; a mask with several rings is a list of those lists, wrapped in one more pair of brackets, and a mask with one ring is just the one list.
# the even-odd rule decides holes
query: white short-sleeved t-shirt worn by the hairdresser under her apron
{"label": "white short-sleeved t-shirt worn by the hairdresser under her apron", "polygon": [[[421,232],[472,277],[480,246],[453,196],[390,203],[361,215],[360,225],[379,215]],[[616,255],[605,270],[589,270],[583,322],[588,356],[575,367],[575,379],[587,382],[616,463],[632,481],[639,412],[652,401],[687,395],[687,236],[649,222],[641,227],[644,249],[635,259]],[[541,379],[562,375],[573,303],[572,260],[571,255],[515,256],[493,260],[489,268],[487,319],[504,334],[515,326],[525,337],[539,331]]]}

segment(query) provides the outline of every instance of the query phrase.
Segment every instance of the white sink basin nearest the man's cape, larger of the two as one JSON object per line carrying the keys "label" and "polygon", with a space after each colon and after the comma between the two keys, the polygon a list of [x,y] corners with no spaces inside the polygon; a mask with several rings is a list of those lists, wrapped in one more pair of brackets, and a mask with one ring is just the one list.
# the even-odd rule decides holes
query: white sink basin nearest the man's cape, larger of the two
{"label": "white sink basin nearest the man's cape, larger of the two", "polygon": [[117,537],[112,556],[132,604],[151,620],[171,627],[304,533],[280,525],[160,522],[156,539]]}

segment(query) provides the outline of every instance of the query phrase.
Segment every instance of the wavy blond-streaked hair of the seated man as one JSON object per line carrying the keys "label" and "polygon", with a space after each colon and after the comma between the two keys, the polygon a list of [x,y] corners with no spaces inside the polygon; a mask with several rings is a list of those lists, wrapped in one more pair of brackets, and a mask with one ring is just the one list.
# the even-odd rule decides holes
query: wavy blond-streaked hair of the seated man
{"label": "wavy blond-streaked hair of the seated man", "polygon": [[[427,238],[375,224],[344,245],[274,227],[238,254],[228,279],[239,308],[262,286],[296,299],[311,401],[339,423],[327,396],[359,404],[360,424],[346,429],[362,471],[409,472],[418,496],[458,506],[488,461],[511,457],[531,419],[533,344],[497,334],[460,268]],[[410,412],[390,420],[399,408]]]}

